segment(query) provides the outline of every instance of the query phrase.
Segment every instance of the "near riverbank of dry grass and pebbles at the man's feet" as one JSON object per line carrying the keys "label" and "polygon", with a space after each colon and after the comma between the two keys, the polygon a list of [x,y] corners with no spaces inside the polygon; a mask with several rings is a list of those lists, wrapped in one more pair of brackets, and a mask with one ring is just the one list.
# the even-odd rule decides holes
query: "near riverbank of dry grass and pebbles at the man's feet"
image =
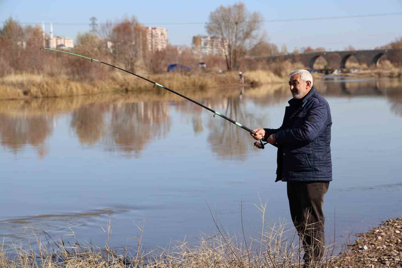
{"label": "near riverbank of dry grass and pebbles at the man's feet", "polygon": [[[144,226],[137,227],[143,231]],[[219,232],[215,235],[202,234],[197,247],[189,247],[185,241],[176,241],[171,248],[160,252],[154,249],[150,253],[145,253],[141,245],[142,238],[139,236],[135,252],[126,251],[124,254],[116,253],[108,244],[103,249],[94,245],[82,245],[78,241],[67,246],[63,241],[54,241],[46,232],[29,227],[37,238],[39,252],[27,252],[22,247],[15,247],[14,252],[7,253],[4,246],[0,245],[0,267],[299,267],[301,264],[297,260],[300,260],[303,252],[299,250],[296,232],[293,228],[287,229],[288,227],[288,224],[280,223],[263,228],[261,241],[254,241],[254,245],[247,247],[231,240],[236,238],[218,227]],[[109,230],[109,227],[103,230]],[[107,231],[105,233],[110,239],[111,234]],[[384,221],[366,233],[356,234],[362,238],[357,239],[353,245],[348,245],[349,248],[344,248],[337,256],[330,256],[331,249],[327,249],[327,261],[322,267],[399,268],[402,266],[401,234],[402,218]],[[45,235],[48,241],[53,241],[53,249],[41,244],[41,235]],[[284,239],[285,237],[288,239]]]}

